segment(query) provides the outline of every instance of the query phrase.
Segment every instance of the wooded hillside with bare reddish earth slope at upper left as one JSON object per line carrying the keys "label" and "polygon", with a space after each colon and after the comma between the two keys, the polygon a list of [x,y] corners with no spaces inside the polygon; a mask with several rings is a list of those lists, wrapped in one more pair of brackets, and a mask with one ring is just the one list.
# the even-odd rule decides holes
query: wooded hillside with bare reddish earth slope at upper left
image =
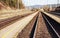
{"label": "wooded hillside with bare reddish earth slope at upper left", "polygon": [[17,0],[0,0],[0,9],[17,9],[24,8],[24,5],[21,0],[19,2]]}

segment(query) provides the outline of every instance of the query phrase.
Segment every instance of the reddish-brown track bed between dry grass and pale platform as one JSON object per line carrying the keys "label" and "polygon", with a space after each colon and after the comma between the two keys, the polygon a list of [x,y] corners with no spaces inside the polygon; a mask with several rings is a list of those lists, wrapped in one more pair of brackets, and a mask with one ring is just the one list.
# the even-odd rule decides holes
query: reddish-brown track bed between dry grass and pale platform
{"label": "reddish-brown track bed between dry grass and pale platform", "polygon": [[30,14],[17,15],[17,16],[14,16],[12,18],[7,18],[7,19],[0,20],[0,30],[7,27],[7,26],[9,26],[9,24],[13,24],[17,20],[22,19],[22,18],[24,18],[28,15],[30,15]]}

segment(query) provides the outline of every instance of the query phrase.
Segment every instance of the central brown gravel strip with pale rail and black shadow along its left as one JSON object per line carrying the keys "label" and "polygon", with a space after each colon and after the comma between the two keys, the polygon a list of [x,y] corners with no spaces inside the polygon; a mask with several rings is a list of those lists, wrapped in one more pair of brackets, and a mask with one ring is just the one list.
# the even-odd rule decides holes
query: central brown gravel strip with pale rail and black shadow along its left
{"label": "central brown gravel strip with pale rail and black shadow along its left", "polygon": [[[28,30],[26,30],[26,31],[28,31]],[[35,23],[33,25],[31,33],[29,35],[30,35],[29,38],[48,38],[48,37],[50,38],[50,35],[47,31],[47,28],[45,26],[45,23],[43,21],[43,18],[42,18],[42,15],[40,12],[39,12],[38,16],[36,17]],[[24,37],[24,38],[26,38],[26,37]]]}

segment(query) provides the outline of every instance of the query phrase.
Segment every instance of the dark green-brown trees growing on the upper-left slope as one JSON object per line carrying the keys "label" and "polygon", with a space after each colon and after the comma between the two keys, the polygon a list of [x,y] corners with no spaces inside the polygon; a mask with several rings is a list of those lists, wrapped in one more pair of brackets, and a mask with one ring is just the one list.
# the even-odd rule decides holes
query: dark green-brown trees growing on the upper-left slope
{"label": "dark green-brown trees growing on the upper-left slope", "polygon": [[3,2],[4,5],[6,6],[10,6],[10,7],[14,7],[14,8],[18,8],[18,4],[19,4],[19,8],[24,8],[24,5],[22,4],[22,0],[0,0],[0,2]]}

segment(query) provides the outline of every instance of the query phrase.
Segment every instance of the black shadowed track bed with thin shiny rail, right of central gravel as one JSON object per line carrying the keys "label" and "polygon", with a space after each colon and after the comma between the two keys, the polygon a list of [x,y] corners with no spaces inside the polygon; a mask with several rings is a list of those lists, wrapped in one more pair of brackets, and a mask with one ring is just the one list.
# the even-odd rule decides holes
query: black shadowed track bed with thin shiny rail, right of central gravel
{"label": "black shadowed track bed with thin shiny rail, right of central gravel", "polygon": [[44,13],[42,13],[42,15],[52,38],[60,38],[60,23],[56,22]]}

